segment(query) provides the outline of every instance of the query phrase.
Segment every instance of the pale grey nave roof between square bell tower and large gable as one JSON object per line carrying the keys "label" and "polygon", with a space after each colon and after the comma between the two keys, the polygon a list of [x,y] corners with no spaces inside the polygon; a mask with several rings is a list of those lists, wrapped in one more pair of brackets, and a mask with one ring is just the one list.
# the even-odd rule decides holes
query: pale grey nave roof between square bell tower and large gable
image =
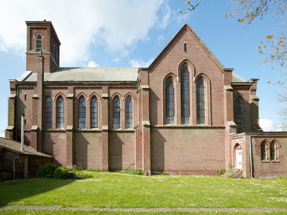
{"label": "pale grey nave roof between square bell tower and large gable", "polygon": [[[44,81],[136,82],[138,69],[138,67],[55,67],[50,73],[44,73]],[[22,78],[24,74],[17,81],[37,81],[37,73]]]}

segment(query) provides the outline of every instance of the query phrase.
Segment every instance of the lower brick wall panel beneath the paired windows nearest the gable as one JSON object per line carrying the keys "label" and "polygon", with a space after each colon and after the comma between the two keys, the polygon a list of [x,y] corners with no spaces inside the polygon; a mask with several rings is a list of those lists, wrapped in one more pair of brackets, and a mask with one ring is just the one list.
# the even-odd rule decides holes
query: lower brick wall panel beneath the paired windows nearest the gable
{"label": "lower brick wall panel beneath the paired windows nearest the gable", "polygon": [[132,169],[135,166],[134,131],[109,131],[108,168],[111,170]]}

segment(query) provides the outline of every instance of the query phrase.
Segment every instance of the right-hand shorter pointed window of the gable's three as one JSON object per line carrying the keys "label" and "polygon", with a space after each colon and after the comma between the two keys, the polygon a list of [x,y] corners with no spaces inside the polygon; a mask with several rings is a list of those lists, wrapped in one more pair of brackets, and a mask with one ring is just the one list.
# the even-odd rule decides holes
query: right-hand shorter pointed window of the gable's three
{"label": "right-hand shorter pointed window of the gable's three", "polygon": [[202,78],[196,82],[197,124],[205,124],[205,85]]}

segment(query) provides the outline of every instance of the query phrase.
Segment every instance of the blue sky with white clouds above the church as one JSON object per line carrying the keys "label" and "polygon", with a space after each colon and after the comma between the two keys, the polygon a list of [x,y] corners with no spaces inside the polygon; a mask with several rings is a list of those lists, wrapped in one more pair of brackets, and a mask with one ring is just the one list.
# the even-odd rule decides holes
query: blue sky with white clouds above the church
{"label": "blue sky with white clouds above the church", "polygon": [[[261,125],[268,129],[276,123],[274,101],[279,86],[267,84],[276,71],[260,66],[264,59],[257,46],[265,36],[279,33],[270,17],[255,20],[248,28],[238,25],[237,18],[225,18],[232,11],[226,1],[201,1],[188,14],[179,14],[187,7],[178,1],[6,1],[0,18],[0,133],[7,127],[8,79],[26,71],[25,21],[52,21],[61,41],[61,67],[124,67],[147,66],[187,22],[225,67],[246,79],[259,78],[257,96]],[[40,3],[40,5],[39,5]],[[35,6],[36,5],[36,6]],[[33,8],[35,12],[28,12]],[[270,121],[271,120],[271,121]],[[265,130],[267,131],[267,130]]]}

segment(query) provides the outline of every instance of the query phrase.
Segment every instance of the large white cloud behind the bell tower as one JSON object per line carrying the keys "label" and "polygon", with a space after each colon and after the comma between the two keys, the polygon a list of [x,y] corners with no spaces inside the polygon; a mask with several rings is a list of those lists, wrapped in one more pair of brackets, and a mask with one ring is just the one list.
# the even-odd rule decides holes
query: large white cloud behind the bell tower
{"label": "large white cloud behind the bell tower", "polygon": [[[56,5],[56,6],[55,6]],[[1,2],[0,51],[25,55],[27,21],[52,21],[61,41],[60,66],[86,64],[90,45],[126,57],[148,31],[160,23],[165,28],[170,8],[164,0],[144,1],[3,1]],[[33,12],[29,12],[33,9]],[[163,9],[162,9],[163,8]],[[160,10],[160,11],[159,11]],[[9,19],[7,19],[9,17]],[[144,18],[143,18],[144,17]]]}

